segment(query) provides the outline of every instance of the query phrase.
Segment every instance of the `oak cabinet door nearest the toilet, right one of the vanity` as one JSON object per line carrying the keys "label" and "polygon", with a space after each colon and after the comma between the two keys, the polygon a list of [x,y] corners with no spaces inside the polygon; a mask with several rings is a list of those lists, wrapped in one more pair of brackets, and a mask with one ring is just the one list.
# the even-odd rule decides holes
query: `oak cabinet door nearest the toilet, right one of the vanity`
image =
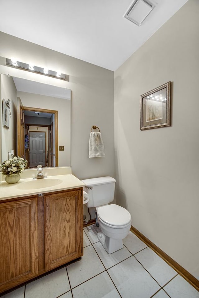
{"label": "oak cabinet door nearest the toilet, right one of the vanity", "polygon": [[83,253],[82,190],[44,197],[45,269],[70,262]]}

